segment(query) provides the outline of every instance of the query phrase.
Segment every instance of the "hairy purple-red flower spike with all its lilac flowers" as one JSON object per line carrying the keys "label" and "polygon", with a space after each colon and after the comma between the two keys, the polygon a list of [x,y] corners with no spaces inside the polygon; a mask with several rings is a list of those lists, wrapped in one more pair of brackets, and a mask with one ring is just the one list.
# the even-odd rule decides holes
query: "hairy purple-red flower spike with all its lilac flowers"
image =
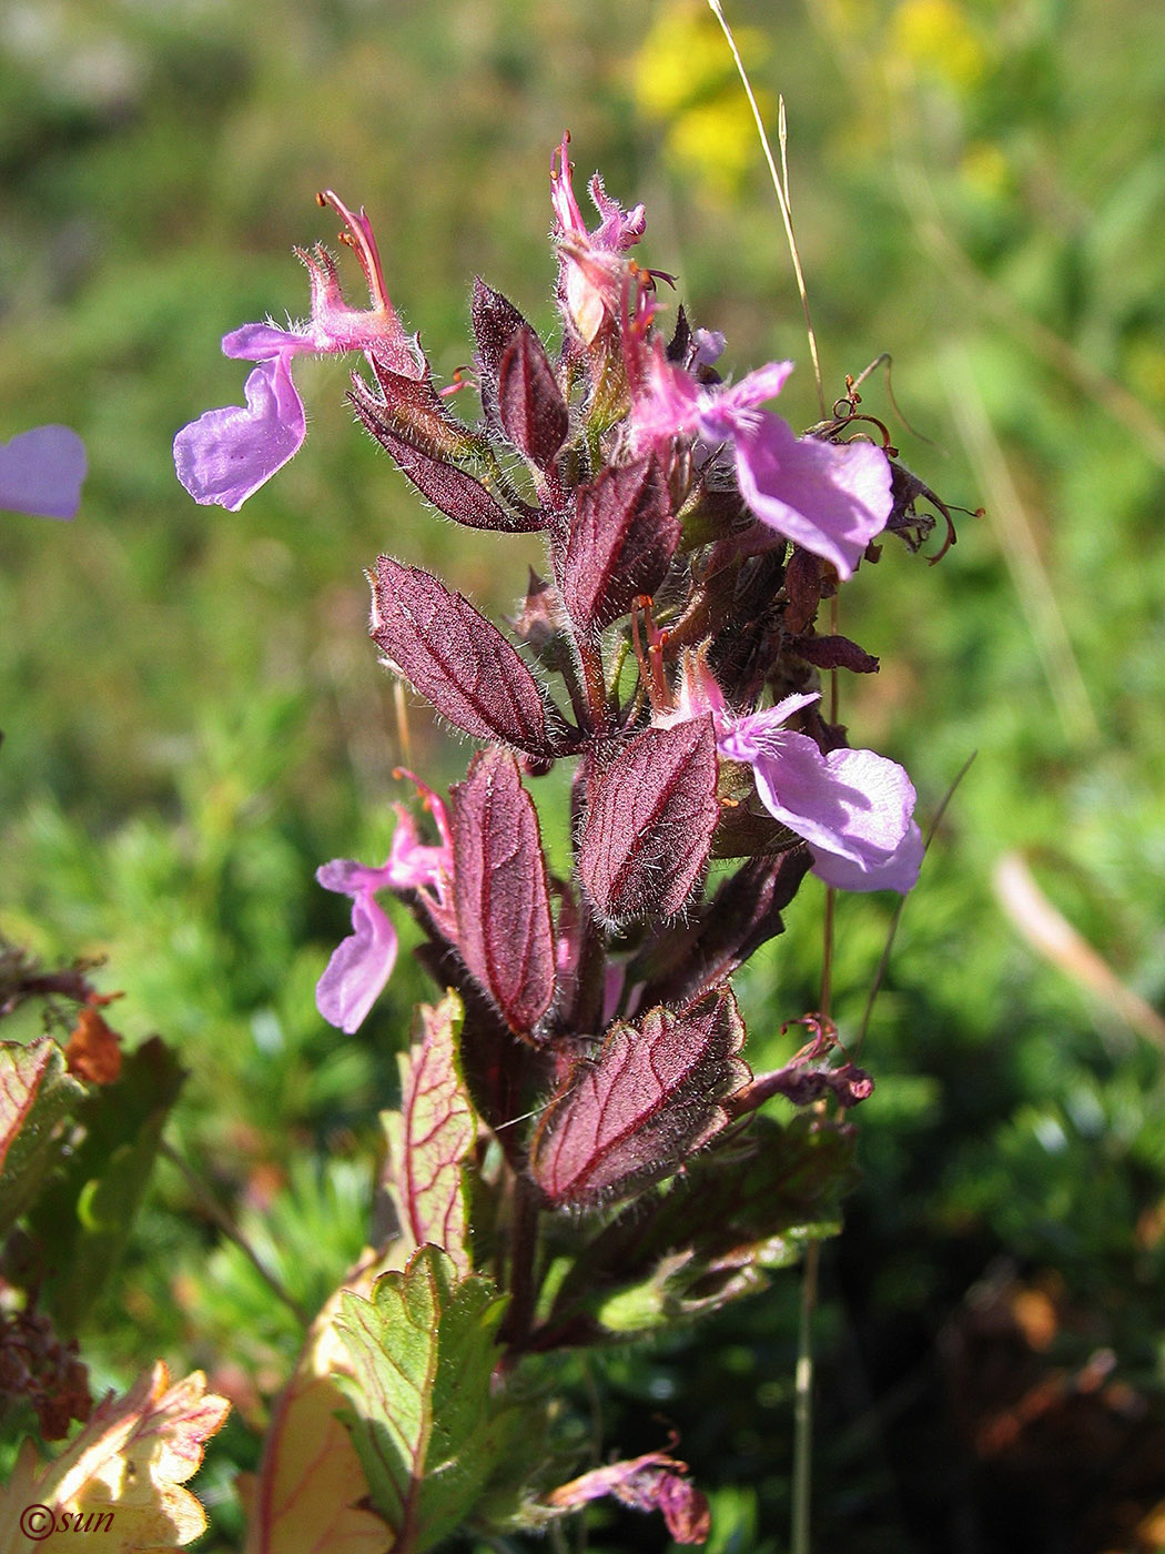
{"label": "hairy purple-red flower spike with all its lilac flowers", "polygon": [[[350,402],[418,493],[454,522],[542,536],[545,577],[531,577],[506,632],[430,572],[377,561],[370,634],[382,662],[483,747],[447,802],[418,783],[424,830],[396,807],[384,866],[320,869],[325,889],[351,898],[353,931],[317,1001],[345,1032],[367,1018],[398,953],[377,900],[393,895],[419,925],[423,963],[464,1010],[458,1075],[496,1130],[513,1190],[542,1209],[635,1200],[634,1246],[617,1218],[589,1268],[610,1277],[640,1259],[651,1284],[657,1257],[682,1308],[741,1288],[732,1256],[775,1234],[766,1173],[777,1167],[758,1145],[747,1212],[716,1197],[711,1166],[685,1189],[690,1212],[676,1209],[679,1189],[651,1198],[656,1184],[697,1150],[715,1164],[729,1124],[769,1096],[831,1094],[848,1108],[871,1088],[851,1064],[828,1068],[820,1024],[811,1049],[753,1078],[730,979],[781,932],[806,873],[901,894],[918,880],[907,774],[851,749],[822,713],[822,671],[873,673],[878,660],[819,631],[817,617],[878,558],[881,535],[916,549],[924,488],[854,435],[851,413],[798,435],[767,409],[789,362],[730,382],[722,336],[693,329],[682,308],[665,334],[657,284],[671,277],[632,256],[643,207],[624,210],[595,176],[589,227],[567,149],[564,138],[551,162],[561,343],[551,354],[475,281],[475,424],[449,410],[393,309],[368,218],[326,193],[370,306],[345,303],[325,249],[300,253],[311,317],[224,339],[228,356],[256,364],[247,406],[183,427],[174,455],[196,500],[236,510],[304,440],[295,356],[360,353]],[[565,878],[550,869],[528,786],[559,760],[575,763]],[[537,1119],[525,1136],[513,1125],[523,1117]],[[742,1128],[729,1136],[736,1147]],[[533,1279],[534,1262],[522,1243],[511,1267]],[[589,1310],[586,1279],[572,1274],[534,1327],[525,1290],[509,1343],[582,1341],[596,1330]],[[643,1464],[586,1481],[578,1497],[674,1501],[677,1524],[704,1529],[679,1465]]]}

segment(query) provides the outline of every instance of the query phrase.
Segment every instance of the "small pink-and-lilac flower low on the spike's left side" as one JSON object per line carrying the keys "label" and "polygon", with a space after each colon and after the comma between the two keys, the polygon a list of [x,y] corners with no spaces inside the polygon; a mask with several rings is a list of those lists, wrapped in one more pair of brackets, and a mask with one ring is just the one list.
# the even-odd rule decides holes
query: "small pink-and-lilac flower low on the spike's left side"
{"label": "small pink-and-lilac flower low on the spike's left side", "polygon": [[396,931],[376,900],[377,890],[432,890],[438,904],[446,898],[452,872],[449,822],[436,794],[423,791],[441,834],[440,845],[423,842],[413,817],[398,803],[396,833],[381,869],[337,858],[315,872],[325,890],[353,898],[353,931],[336,948],[315,987],[315,1007],[346,1035],[363,1024],[396,965]]}

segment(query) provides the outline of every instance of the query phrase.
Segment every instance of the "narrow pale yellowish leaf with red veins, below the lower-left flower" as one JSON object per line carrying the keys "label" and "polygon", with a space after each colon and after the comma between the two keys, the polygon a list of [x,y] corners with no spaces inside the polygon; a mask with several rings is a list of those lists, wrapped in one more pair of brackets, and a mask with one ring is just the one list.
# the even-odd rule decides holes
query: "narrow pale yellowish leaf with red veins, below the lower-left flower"
{"label": "narrow pale yellowish leaf with red veins, below the lower-left flower", "polygon": [[401,1110],[385,1114],[385,1178],[413,1246],[443,1248],[466,1277],[472,1259],[461,1164],[474,1147],[477,1120],[457,1051],[463,1013],[457,993],[416,1012],[412,1047],[398,1058]]}

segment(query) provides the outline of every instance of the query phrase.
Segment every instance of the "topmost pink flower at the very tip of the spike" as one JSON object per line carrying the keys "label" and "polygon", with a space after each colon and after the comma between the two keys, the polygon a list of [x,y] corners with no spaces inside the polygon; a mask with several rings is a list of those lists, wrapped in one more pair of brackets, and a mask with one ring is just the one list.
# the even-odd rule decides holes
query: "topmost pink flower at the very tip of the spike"
{"label": "topmost pink flower at the very tip of the spike", "polygon": [[559,300],[567,322],[590,345],[603,328],[604,317],[614,315],[621,306],[621,255],[643,236],[648,218],[642,205],[623,210],[618,200],[610,199],[596,172],[587,190],[601,219],[589,232],[570,180],[569,145],[567,134],[550,166],[550,202],[555,207],[556,238],[562,255]]}

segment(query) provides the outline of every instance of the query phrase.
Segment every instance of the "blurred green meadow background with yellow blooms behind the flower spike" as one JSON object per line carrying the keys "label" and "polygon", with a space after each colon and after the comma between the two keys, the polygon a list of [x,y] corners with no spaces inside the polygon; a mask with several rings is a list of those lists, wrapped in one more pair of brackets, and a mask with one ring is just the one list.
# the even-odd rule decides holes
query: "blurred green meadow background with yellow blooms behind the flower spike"
{"label": "blurred green meadow background with yellow blooms behind the flower spike", "polygon": [[[1165,1391],[1162,1054],[1047,967],[993,892],[1021,850],[1115,974],[1165,1002],[1165,12],[725,9],[770,127],[788,104],[826,399],[892,351],[909,426],[881,370],[864,409],[940,496],[986,508],[958,517],[935,570],[887,545],[843,597],[842,629],[882,657],[842,687],[854,743],[902,760],[926,813],[977,755],[862,1047],[878,1078],[864,1179],[817,1324],[820,1546],[948,1549],[954,1526],[972,1551],[1153,1546],[1117,1524],[1111,1437],[1087,1483],[1067,1447],[1061,1478],[1022,1481],[1028,1524],[977,1493],[1019,1469],[977,1456],[944,1397],[983,1291],[1003,1299],[1008,1280],[1055,1291],[1048,1366],[1075,1374],[1111,1347],[1142,1420]],[[376,1111],[423,995],[402,956],[356,1041],[312,1002],[345,931],[314,869],[384,855],[402,758],[360,569],[391,550],[506,609],[533,552],[426,516],[350,426],[336,362],[297,367],[308,444],[239,514],[186,499],[172,434],[241,399],[222,333],[306,311],[290,247],[332,238],[317,186],[367,205],[441,376],[469,354],[474,272],[550,329],[564,126],[581,172],[646,202],[645,263],[727,333],[729,370],[802,362],[783,409],[809,424],[800,308],[741,124],[699,0],[272,0],[261,25],[210,0],[0,14],[0,437],[67,421],[92,462],[76,525],[0,514],[0,914],[50,959],[109,957],[121,1029],[163,1032],[190,1069],[176,1152],[304,1308],[367,1231]],[[458,775],[464,749],[424,709],[410,726],[409,763],[433,785]],[[542,793],[561,838],[562,783]],[[839,901],[847,1040],[890,909]],[[742,977],[756,1066],[788,1055],[780,1023],[819,1002],[812,889],[788,929]],[[89,1338],[103,1380],[163,1354],[208,1366],[242,1422],[261,1419],[298,1326],[172,1169],[121,1285]],[[795,1307],[795,1276],[778,1276],[697,1340],[609,1368],[612,1444],[649,1450],[652,1414],[674,1419],[724,1554],[784,1546]],[[224,1500],[225,1548],[253,1437],[236,1420],[216,1450],[203,1486]],[[1128,1520],[1153,1495],[1125,1487]],[[593,1548],[657,1535],[620,1518]]]}

